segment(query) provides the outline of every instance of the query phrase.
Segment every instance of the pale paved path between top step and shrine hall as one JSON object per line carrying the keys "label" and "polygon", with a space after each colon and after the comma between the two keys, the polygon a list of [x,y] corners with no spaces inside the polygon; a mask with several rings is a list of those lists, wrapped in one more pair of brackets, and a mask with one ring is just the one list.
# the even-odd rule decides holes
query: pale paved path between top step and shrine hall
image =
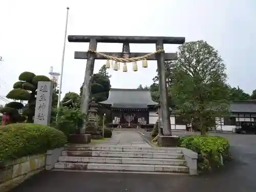
{"label": "pale paved path between top step and shrine hall", "polygon": [[112,138],[106,139],[96,145],[151,147],[136,131],[114,131]]}

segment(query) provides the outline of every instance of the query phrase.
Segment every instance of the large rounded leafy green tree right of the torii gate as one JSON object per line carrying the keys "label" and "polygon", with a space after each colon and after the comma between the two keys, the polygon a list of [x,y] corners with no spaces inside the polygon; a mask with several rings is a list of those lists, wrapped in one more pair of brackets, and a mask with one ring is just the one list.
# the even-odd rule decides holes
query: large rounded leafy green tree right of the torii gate
{"label": "large rounded leafy green tree right of the torii gate", "polygon": [[171,93],[177,108],[205,135],[207,128],[215,125],[216,117],[229,113],[223,60],[218,51],[199,40],[180,46],[178,60],[171,65]]}

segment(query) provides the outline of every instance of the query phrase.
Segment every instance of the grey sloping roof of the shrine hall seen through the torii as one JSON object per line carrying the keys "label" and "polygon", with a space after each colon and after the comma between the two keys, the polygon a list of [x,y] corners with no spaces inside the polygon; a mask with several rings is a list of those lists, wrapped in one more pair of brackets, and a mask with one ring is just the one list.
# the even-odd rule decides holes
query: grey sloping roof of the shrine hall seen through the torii
{"label": "grey sloping roof of the shrine hall seen through the torii", "polygon": [[99,103],[111,104],[113,108],[135,109],[158,104],[152,100],[150,90],[144,89],[111,89],[109,98]]}

